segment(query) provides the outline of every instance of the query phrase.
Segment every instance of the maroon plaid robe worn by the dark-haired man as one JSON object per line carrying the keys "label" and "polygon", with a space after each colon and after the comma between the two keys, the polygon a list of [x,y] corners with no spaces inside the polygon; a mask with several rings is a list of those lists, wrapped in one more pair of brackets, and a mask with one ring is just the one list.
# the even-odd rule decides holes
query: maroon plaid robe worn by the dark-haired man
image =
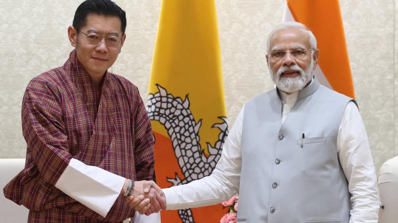
{"label": "maroon plaid robe worn by the dark-haired man", "polygon": [[121,222],[134,210],[119,197],[106,218],[54,185],[71,158],[132,180],[154,179],[154,137],[138,89],[106,72],[99,92],[73,50],[33,78],[22,102],[25,168],[3,189],[30,210],[29,223]]}

